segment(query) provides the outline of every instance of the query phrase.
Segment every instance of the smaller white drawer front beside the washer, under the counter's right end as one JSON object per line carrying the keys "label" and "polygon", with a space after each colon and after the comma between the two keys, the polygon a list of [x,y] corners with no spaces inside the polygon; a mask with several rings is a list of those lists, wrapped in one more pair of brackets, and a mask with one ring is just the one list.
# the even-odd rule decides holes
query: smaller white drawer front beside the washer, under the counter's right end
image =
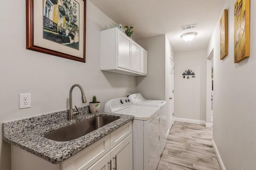
{"label": "smaller white drawer front beside the washer, under the counter's right end", "polygon": [[124,140],[124,138],[126,138],[126,136],[128,136],[130,133],[132,133],[132,121],[111,132],[110,149],[114,148],[114,146]]}

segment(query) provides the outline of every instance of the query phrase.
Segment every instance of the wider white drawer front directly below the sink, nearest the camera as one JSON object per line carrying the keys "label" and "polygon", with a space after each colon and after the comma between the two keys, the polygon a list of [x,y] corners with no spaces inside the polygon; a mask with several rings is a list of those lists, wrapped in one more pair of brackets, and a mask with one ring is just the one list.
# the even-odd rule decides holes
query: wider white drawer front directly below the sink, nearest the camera
{"label": "wider white drawer front directly below the sink, nearest the camera", "polygon": [[110,135],[101,138],[84,150],[62,162],[62,170],[86,170],[110,151]]}

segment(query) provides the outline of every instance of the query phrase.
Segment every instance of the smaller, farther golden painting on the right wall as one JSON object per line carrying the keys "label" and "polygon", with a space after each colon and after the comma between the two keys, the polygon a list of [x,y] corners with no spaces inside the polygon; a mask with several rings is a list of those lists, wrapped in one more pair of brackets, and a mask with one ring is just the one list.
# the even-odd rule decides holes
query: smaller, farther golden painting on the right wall
{"label": "smaller, farther golden painting on the right wall", "polygon": [[220,59],[228,55],[228,10],[220,18]]}

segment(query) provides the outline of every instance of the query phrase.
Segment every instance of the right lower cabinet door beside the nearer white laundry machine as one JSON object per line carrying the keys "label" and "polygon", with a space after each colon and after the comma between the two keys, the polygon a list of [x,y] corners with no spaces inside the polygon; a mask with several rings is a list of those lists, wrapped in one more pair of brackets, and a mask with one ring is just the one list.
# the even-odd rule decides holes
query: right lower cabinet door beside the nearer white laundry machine
{"label": "right lower cabinet door beside the nearer white laundry machine", "polygon": [[112,168],[132,170],[132,134],[127,136],[111,151]]}

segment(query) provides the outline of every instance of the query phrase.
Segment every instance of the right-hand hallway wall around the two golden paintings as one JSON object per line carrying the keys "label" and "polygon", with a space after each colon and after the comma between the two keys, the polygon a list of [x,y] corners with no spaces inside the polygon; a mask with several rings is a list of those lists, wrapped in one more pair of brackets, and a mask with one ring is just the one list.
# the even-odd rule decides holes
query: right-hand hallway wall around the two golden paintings
{"label": "right-hand hallway wall around the two golden paintings", "polygon": [[[208,52],[214,48],[213,139],[227,170],[256,167],[256,1],[250,1],[250,57],[234,63],[234,3],[227,0],[228,55],[220,60],[217,22]],[[220,14],[221,15],[221,14]]]}

